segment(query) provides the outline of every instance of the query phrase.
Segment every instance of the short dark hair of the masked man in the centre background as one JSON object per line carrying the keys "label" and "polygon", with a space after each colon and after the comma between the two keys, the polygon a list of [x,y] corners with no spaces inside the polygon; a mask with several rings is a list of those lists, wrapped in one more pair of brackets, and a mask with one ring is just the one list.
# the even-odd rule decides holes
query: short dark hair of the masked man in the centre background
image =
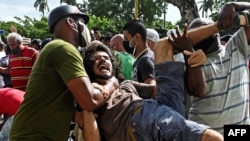
{"label": "short dark hair of the masked man in the centre background", "polygon": [[147,28],[140,21],[129,21],[123,26],[123,31],[127,30],[129,34],[134,36],[136,33],[139,33],[142,37],[142,40],[146,42],[147,40]]}

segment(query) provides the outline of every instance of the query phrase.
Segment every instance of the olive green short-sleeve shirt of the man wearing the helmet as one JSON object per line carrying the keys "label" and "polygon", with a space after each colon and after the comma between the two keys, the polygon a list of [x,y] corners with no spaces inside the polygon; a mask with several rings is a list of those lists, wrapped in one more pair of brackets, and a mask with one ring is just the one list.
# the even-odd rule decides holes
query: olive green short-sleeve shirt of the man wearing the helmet
{"label": "olive green short-sleeve shirt of the man wearing the helmet", "polygon": [[74,97],[66,84],[77,77],[87,77],[80,52],[60,39],[49,42],[33,67],[10,139],[67,140]]}

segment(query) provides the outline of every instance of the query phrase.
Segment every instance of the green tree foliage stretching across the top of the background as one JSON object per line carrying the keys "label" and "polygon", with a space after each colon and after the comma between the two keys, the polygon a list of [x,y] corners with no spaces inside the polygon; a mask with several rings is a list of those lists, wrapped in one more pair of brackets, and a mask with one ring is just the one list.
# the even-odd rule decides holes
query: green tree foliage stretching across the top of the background
{"label": "green tree foliage stretching across the top of the background", "polygon": [[[139,19],[146,27],[155,28],[161,37],[165,36],[169,29],[174,28],[175,24],[178,24],[182,28],[184,22],[189,23],[194,18],[199,17],[195,0],[138,1]],[[227,1],[229,0],[200,0],[201,7],[199,10],[202,10],[204,15],[216,19],[218,11]],[[24,19],[15,17],[18,21],[17,23],[2,22],[0,28],[6,31],[6,34],[2,38],[6,38],[5,36],[7,36],[11,25],[15,25],[18,32],[25,37],[41,39],[49,37],[47,17],[44,17],[45,11],[49,11],[47,2],[48,0],[35,0],[34,8],[42,13],[40,20],[25,16]],[[135,0],[60,0],[60,3],[76,5],[81,11],[90,15],[88,27],[90,29],[98,27],[102,33],[120,33],[127,21],[135,19]],[[171,23],[162,19],[162,15],[166,12],[166,5],[168,4],[172,4],[180,10],[182,19],[177,23]]]}

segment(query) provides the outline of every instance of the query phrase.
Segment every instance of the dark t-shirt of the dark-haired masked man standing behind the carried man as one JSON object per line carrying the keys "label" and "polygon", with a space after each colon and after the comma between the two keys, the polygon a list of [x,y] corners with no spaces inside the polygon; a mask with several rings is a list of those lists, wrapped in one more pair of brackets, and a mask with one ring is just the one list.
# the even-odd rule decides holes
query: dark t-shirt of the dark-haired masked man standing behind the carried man
{"label": "dark t-shirt of the dark-haired masked man standing behind the carried man", "polygon": [[147,49],[134,62],[131,79],[137,82],[144,82],[147,78],[155,78],[154,69],[154,53],[151,49]]}

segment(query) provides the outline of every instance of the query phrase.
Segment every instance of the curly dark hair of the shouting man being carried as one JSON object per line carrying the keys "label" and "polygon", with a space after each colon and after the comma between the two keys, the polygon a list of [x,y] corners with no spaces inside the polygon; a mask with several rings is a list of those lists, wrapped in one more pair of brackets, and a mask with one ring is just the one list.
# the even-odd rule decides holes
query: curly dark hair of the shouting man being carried
{"label": "curly dark hair of the shouting man being carried", "polygon": [[124,76],[121,73],[121,67],[117,63],[117,58],[114,55],[114,52],[110,51],[110,49],[104,45],[100,41],[93,41],[91,42],[83,51],[83,59],[84,59],[84,67],[86,72],[88,73],[88,76],[90,78],[91,82],[95,81],[95,74],[93,70],[93,65],[94,65],[94,54],[96,51],[104,51],[108,54],[108,56],[111,59],[112,67],[113,67],[113,72],[112,75],[115,76],[119,82],[122,82],[125,80]]}

